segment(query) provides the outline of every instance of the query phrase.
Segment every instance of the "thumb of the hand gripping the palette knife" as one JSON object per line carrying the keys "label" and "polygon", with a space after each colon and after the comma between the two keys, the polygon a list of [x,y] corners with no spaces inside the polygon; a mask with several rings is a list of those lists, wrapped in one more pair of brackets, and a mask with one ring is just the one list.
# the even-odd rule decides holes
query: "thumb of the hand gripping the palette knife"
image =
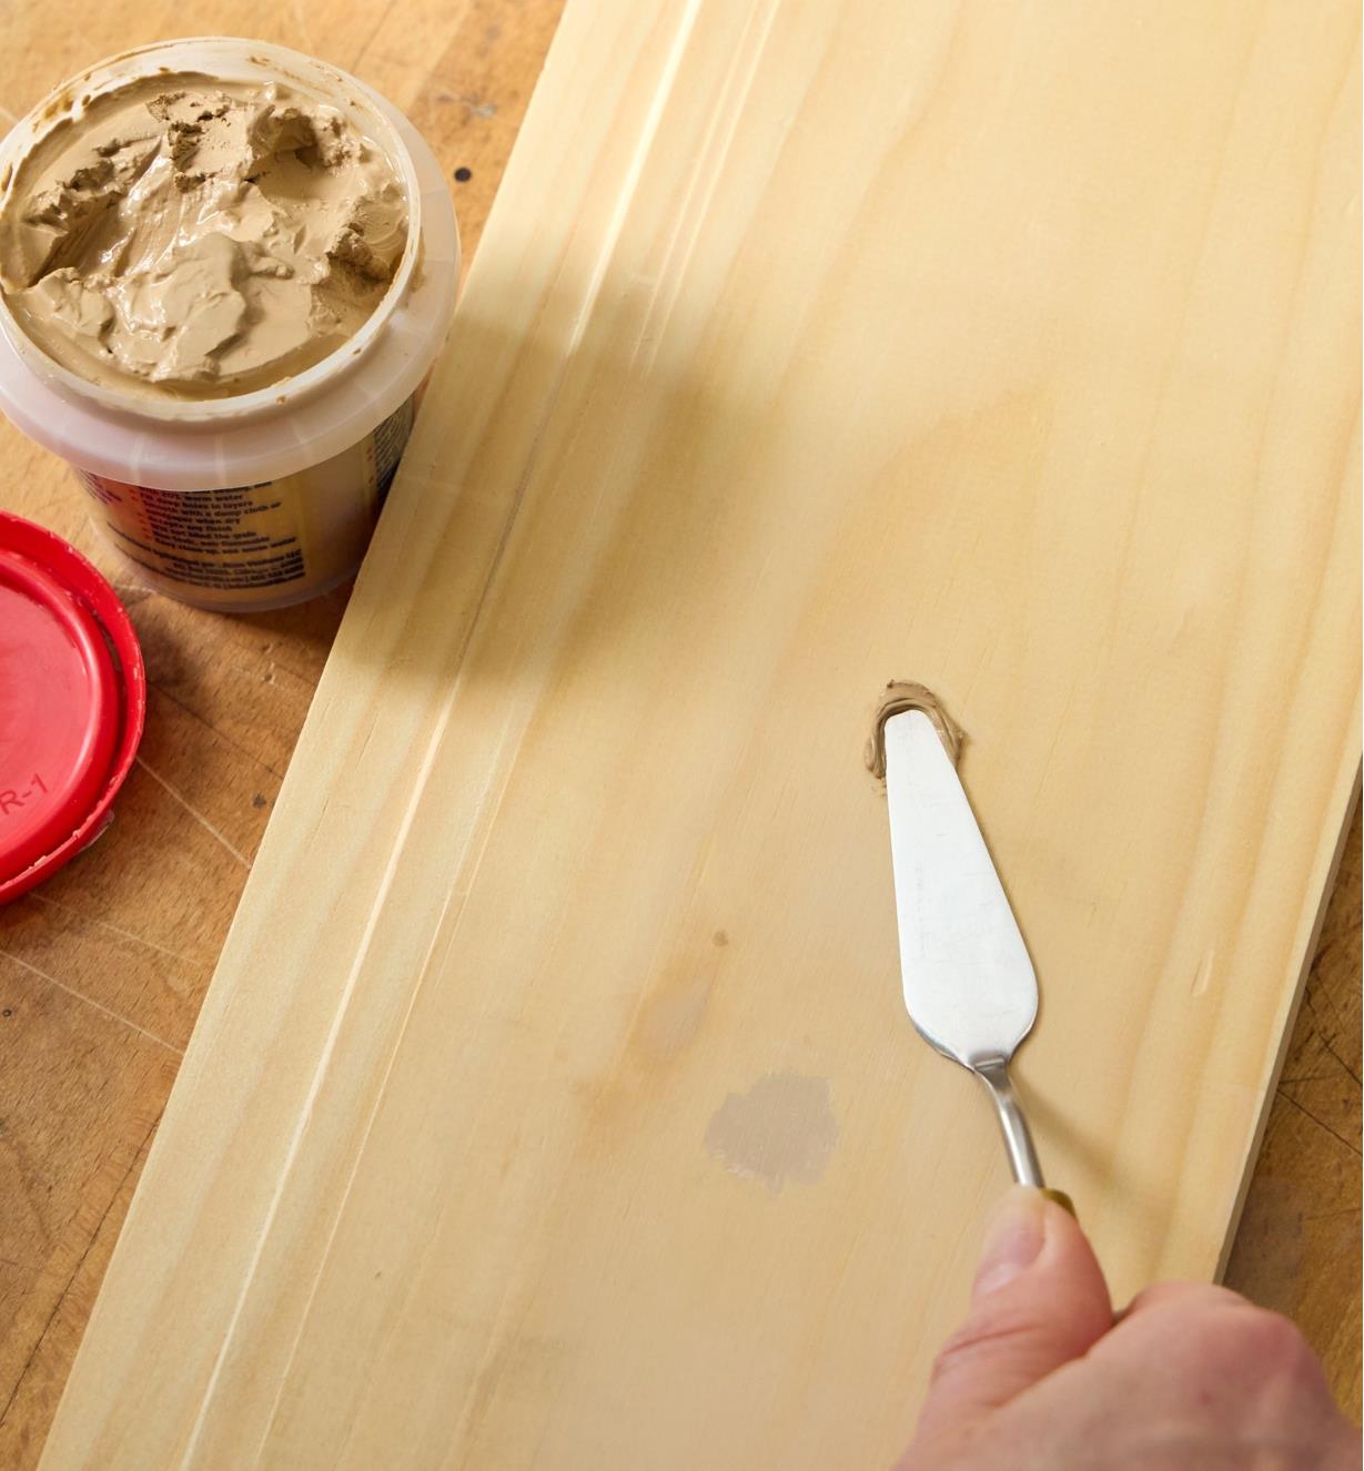
{"label": "thumb of the hand gripping the palette knife", "polygon": [[1074,1217],[1014,1186],[986,1234],[967,1321],[933,1365],[914,1449],[964,1434],[1111,1327],[1108,1286]]}

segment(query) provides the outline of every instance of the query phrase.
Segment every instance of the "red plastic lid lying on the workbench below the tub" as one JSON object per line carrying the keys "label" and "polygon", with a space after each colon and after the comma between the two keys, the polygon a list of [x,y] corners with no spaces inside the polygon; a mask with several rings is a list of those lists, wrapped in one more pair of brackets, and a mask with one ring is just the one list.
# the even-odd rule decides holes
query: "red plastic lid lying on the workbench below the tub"
{"label": "red plastic lid lying on the workbench below the tub", "polygon": [[60,537],[0,512],[0,903],[100,834],[146,715],[113,588]]}

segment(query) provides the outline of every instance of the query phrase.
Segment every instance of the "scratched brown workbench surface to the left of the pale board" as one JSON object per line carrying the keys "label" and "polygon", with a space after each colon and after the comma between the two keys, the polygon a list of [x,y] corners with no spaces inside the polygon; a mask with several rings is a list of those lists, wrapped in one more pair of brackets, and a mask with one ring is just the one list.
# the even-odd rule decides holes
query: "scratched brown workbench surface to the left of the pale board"
{"label": "scratched brown workbench surface to the left of the pale board", "polygon": [[[296,46],[408,109],[452,179],[468,259],[559,9],[400,0],[375,28],[372,12],[335,0],[22,3],[7,12],[0,116],[124,46],[206,31]],[[119,584],[152,691],[115,825],[0,911],[0,1465],[29,1471],[349,590],[256,618],[182,608],[127,581],[65,466],[3,419],[0,446],[0,505],[60,531]]]}

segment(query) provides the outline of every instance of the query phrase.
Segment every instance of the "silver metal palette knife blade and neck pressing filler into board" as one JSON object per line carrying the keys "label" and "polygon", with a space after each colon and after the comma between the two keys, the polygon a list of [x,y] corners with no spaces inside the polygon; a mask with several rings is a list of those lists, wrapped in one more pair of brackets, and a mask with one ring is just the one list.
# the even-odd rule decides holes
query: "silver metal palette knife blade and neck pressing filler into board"
{"label": "silver metal palette knife blade and neck pressing filler into board", "polygon": [[[936,702],[930,708],[939,710]],[[1014,1178],[1042,1189],[1008,1071],[1037,1018],[1033,962],[939,727],[923,705],[892,700],[880,730],[909,1019],[927,1043],[984,1083]],[[1073,1209],[1059,1190],[1046,1193]]]}

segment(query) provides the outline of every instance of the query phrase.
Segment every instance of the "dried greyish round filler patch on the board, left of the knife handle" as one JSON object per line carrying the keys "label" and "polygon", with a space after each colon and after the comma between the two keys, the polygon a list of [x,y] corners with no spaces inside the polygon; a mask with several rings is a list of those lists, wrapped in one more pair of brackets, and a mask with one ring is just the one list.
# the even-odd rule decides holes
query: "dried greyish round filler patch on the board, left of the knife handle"
{"label": "dried greyish round filler patch on the board, left of the knife handle", "polygon": [[799,1072],[768,1072],[747,1093],[731,1093],[706,1125],[706,1149],[772,1193],[820,1180],[837,1141],[828,1083]]}

